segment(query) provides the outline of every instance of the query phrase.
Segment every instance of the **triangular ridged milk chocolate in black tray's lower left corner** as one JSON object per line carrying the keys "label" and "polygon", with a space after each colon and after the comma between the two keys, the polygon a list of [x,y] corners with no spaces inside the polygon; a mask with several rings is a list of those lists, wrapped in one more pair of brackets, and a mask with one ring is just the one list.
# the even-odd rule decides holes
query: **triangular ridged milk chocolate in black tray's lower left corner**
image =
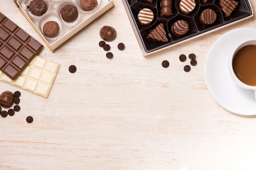
{"label": "triangular ridged milk chocolate in black tray's lower left corner", "polygon": [[158,24],[153,30],[148,33],[147,37],[155,41],[168,42],[166,31],[164,30],[164,24]]}

